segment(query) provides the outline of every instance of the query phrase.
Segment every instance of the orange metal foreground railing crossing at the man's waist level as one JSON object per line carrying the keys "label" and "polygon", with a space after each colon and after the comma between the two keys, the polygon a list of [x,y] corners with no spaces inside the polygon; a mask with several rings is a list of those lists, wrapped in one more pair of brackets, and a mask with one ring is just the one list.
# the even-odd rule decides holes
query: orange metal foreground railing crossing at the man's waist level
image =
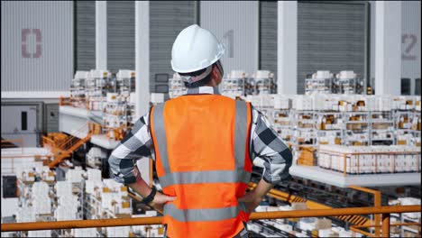
{"label": "orange metal foreground railing crossing at the man's waist level", "polygon": [[[380,207],[368,206],[368,207],[352,207],[352,208],[260,212],[260,213],[252,213],[252,215],[250,216],[250,219],[261,220],[261,219],[302,218],[302,217],[338,216],[338,215],[381,214],[382,215],[382,220],[381,220],[382,221],[382,224],[381,224],[382,237],[389,237],[390,236],[390,214],[420,212],[420,209],[421,209],[421,206],[380,206]],[[2,224],[2,232],[57,230],[57,229],[145,225],[145,224],[161,224],[161,216]],[[361,233],[361,231],[357,231],[357,232]],[[368,233],[368,235],[372,236],[372,234],[370,233]]]}

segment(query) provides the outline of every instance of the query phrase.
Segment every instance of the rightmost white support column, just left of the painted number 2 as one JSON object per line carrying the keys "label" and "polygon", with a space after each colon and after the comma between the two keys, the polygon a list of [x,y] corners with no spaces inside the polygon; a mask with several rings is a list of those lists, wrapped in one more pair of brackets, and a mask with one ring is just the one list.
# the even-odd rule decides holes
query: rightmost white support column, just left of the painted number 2
{"label": "rightmost white support column, just left of the painted number 2", "polygon": [[375,1],[375,94],[400,95],[401,3]]}

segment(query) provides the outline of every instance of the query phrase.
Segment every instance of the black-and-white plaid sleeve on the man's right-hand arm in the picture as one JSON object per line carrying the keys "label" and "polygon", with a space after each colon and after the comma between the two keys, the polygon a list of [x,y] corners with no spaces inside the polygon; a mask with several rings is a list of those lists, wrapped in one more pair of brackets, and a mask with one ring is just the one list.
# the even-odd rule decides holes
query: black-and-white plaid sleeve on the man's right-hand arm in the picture
{"label": "black-and-white plaid sleeve on the man's right-hand arm in the picture", "polygon": [[267,118],[252,107],[251,159],[263,165],[262,178],[271,184],[287,180],[292,162],[289,147],[280,139]]}

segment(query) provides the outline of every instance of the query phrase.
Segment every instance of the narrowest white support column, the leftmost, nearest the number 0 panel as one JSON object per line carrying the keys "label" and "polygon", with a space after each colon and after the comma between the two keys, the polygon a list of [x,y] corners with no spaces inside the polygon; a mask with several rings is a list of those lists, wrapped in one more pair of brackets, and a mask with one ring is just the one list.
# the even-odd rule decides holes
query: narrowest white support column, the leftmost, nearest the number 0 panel
{"label": "narrowest white support column, the leftmost, nearest the number 0 panel", "polygon": [[96,1],[96,69],[107,69],[106,1]]}

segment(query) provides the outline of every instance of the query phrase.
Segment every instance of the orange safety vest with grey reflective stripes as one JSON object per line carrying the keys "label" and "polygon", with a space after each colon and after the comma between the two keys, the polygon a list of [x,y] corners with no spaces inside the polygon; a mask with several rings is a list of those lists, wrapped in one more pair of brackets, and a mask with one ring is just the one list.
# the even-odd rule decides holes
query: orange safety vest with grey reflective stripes
{"label": "orange safety vest with grey reflective stripes", "polygon": [[151,108],[151,136],[169,237],[233,237],[249,219],[251,104],[219,95],[188,95]]}

